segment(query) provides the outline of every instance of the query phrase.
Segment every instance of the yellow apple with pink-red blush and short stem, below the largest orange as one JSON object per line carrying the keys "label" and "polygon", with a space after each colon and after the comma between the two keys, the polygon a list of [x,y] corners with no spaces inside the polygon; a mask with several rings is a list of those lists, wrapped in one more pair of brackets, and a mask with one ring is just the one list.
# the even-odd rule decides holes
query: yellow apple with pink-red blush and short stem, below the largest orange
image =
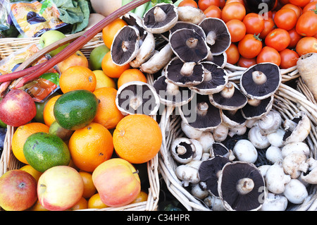
{"label": "yellow apple with pink-red blush and short stem, below the largest orange", "polygon": [[103,162],[94,169],[92,181],[101,202],[110,207],[128,205],[141,191],[139,175],[125,159],[112,158]]}

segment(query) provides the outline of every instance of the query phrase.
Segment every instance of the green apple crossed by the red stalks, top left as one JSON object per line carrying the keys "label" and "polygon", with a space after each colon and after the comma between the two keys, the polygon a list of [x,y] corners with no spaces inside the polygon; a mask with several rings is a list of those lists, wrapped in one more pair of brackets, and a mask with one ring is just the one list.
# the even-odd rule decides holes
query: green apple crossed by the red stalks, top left
{"label": "green apple crossed by the red stalks, top left", "polygon": [[[64,35],[62,32],[58,30],[47,30],[46,32],[44,32],[43,35],[41,35],[41,37],[39,37],[39,44],[42,48],[44,48],[46,46],[49,46],[49,44],[53,44],[54,42],[63,39],[64,37],[66,37],[66,35]],[[52,57],[55,56],[56,54],[58,54],[58,52],[65,49],[68,46],[68,44],[64,44],[63,46],[54,49],[53,51],[49,52],[49,54]]]}

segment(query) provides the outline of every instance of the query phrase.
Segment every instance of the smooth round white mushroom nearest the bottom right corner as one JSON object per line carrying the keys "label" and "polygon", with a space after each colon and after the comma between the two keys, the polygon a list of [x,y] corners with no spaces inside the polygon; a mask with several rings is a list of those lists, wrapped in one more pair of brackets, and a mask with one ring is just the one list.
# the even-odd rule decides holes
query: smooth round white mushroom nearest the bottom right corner
{"label": "smooth round white mushroom nearest the bottom right corner", "polygon": [[297,180],[292,179],[290,183],[285,185],[284,196],[287,200],[294,204],[302,204],[305,198],[308,196],[308,192],[304,184]]}

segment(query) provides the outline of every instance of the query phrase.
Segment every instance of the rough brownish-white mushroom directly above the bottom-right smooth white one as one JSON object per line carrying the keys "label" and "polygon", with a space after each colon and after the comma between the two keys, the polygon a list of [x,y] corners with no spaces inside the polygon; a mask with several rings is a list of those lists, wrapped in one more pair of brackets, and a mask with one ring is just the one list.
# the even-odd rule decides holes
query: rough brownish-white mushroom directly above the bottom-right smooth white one
{"label": "rough brownish-white mushroom directly above the bottom-right smooth white one", "polygon": [[305,154],[287,154],[287,156],[282,161],[282,167],[285,174],[289,174],[291,178],[298,178],[301,172],[306,172],[309,168],[309,164],[306,163]]}

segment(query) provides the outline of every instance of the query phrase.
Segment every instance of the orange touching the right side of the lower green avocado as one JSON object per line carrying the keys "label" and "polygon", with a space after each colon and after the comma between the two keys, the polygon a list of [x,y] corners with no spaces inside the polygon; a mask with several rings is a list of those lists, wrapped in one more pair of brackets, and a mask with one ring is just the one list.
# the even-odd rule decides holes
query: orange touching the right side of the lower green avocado
{"label": "orange touching the right side of the lower green avocado", "polygon": [[99,123],[90,123],[75,130],[70,137],[68,148],[77,168],[92,172],[113,153],[113,140],[107,128]]}

